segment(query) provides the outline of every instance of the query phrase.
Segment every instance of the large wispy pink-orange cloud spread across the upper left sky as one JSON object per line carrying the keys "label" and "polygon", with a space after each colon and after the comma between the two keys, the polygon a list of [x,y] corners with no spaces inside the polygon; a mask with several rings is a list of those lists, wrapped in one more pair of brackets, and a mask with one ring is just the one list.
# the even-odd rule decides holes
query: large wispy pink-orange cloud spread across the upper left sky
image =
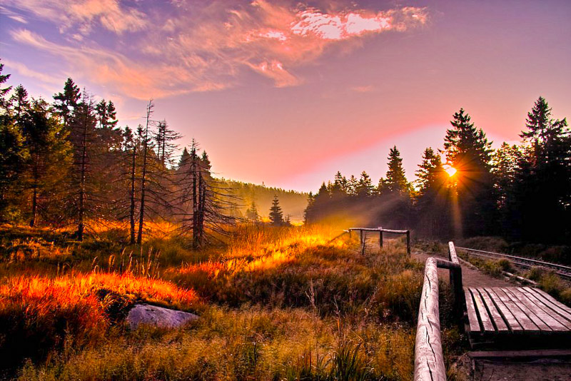
{"label": "large wispy pink-orange cloud spread across the upper left sky", "polygon": [[[79,71],[128,96],[169,96],[233,86],[245,71],[270,78],[274,86],[296,86],[296,68],[330,48],[352,49],[351,41],[385,31],[423,26],[428,13],[404,7],[387,11],[320,10],[300,4],[252,2],[173,2],[147,13],[118,0],[6,0],[14,9],[57,20],[66,44],[27,29],[11,36],[21,44],[63,56]],[[353,7],[354,8],[354,7]],[[69,29],[74,30],[69,33]],[[89,35],[94,28],[116,32],[121,53],[103,48]],[[142,31],[125,35],[126,32]],[[69,39],[71,36],[71,39]]]}

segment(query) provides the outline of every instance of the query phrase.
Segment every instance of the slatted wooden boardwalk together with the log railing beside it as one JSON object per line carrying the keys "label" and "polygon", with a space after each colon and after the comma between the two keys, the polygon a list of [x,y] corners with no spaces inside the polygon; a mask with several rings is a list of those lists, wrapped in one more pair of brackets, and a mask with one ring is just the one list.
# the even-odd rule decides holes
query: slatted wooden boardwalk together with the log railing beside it
{"label": "slatted wooden boardwalk together with the log railing beside it", "polygon": [[462,267],[454,243],[448,243],[448,247],[449,260],[426,260],[416,330],[415,381],[446,380],[440,335],[437,268],[450,270],[453,313],[460,325],[465,325],[470,345],[487,350],[473,353],[478,353],[480,357],[542,358],[570,355],[571,308],[537,288],[464,288]]}

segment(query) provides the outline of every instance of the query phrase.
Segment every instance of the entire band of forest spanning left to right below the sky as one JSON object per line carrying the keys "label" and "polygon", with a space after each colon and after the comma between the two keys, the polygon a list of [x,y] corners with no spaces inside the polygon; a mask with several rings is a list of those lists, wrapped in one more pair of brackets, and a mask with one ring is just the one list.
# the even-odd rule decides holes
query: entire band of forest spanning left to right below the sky
{"label": "entire band of forest spanning left to right below the sky", "polygon": [[[0,71],[0,83],[8,78]],[[236,220],[265,220],[277,195],[284,223],[413,228],[443,239],[571,240],[570,129],[542,97],[518,145],[492,149],[460,109],[443,148],[424,151],[415,181],[405,176],[395,146],[378,183],[365,172],[337,173],[307,195],[214,177],[198,142],[178,154],[181,136],[154,116],[152,101],[145,121],[130,128],[118,126],[112,101],[94,101],[71,78],[51,102],[29,97],[21,85],[1,88],[0,95],[3,222],[73,225],[81,240],[92,225],[113,221],[128,230],[131,243],[141,243],[148,223],[168,222],[201,245]]]}

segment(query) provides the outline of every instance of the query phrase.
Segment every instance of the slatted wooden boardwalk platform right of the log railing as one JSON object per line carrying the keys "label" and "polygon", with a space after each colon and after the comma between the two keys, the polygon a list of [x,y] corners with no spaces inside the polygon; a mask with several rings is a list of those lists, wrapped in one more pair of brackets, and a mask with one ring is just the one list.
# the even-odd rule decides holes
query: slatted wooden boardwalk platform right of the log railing
{"label": "slatted wooden boardwalk platform right of the log railing", "polygon": [[[529,287],[464,288],[470,342],[554,345],[571,338],[571,308]],[[516,336],[517,335],[517,336]]]}

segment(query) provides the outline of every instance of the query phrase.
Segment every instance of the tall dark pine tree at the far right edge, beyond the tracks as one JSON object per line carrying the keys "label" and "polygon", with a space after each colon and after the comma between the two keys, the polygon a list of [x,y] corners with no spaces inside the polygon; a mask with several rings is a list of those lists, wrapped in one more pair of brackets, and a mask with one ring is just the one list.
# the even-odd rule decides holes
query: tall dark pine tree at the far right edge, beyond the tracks
{"label": "tall dark pine tree at the far right edge, beyond the tracks", "polygon": [[[571,131],[555,120],[545,98],[538,98],[522,131],[523,151],[507,200],[516,238],[569,243],[571,228]],[[549,216],[546,218],[546,216]],[[541,221],[541,223],[538,223]]]}

